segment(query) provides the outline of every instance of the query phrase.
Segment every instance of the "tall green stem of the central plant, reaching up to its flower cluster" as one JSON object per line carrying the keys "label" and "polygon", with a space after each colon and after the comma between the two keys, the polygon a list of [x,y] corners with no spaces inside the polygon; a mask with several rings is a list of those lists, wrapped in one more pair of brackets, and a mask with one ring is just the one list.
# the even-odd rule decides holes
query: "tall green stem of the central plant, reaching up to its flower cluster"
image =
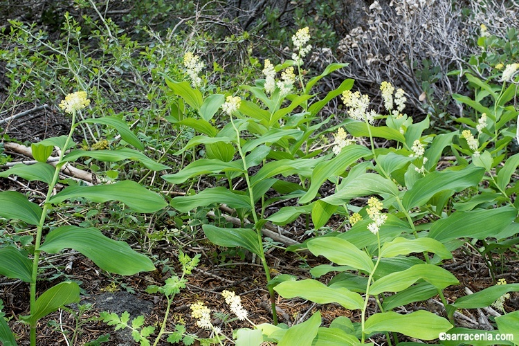
{"label": "tall green stem of the central plant, reaching up to its flower cluster", "polygon": [[[252,185],[251,185],[251,178],[250,178],[250,176],[248,176],[247,162],[245,160],[245,155],[242,152],[242,146],[239,144],[239,140],[240,140],[239,131],[238,131],[236,125],[235,125],[235,122],[233,120],[233,116],[229,116],[229,118],[230,118],[230,122],[233,124],[233,128],[235,129],[236,135],[237,135],[237,144],[236,144],[236,146],[238,148],[239,156],[242,158],[242,163],[244,165],[244,176],[245,176],[245,181],[247,183],[249,201],[251,203],[251,214],[253,215],[253,219],[254,219],[254,229],[255,229],[256,235],[257,235],[257,244],[260,245],[259,246],[260,253],[258,255],[260,255],[260,260],[262,261],[262,264],[263,264],[263,270],[265,271],[266,282],[268,283],[268,282],[271,281],[271,271],[268,268],[268,264],[266,263],[265,252],[263,250],[262,230],[261,230],[261,227],[258,227],[258,225],[260,223],[259,223],[259,220],[258,220],[257,215],[256,215],[255,203],[254,203],[254,194],[253,194],[253,188],[252,188]],[[277,325],[277,312],[275,311],[275,294],[274,294],[274,289],[271,286],[268,286],[267,288],[268,288],[268,294],[270,295],[270,299],[271,299],[273,324]]]}

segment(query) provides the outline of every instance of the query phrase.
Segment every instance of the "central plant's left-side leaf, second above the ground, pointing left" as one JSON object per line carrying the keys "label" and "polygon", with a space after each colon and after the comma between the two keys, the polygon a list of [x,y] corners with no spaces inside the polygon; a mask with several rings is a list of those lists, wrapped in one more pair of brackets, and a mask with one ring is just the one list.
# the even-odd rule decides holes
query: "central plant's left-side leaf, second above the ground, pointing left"
{"label": "central plant's left-side leaf, second above the ground, pointing left", "polygon": [[198,207],[206,207],[212,203],[224,203],[230,208],[251,209],[251,201],[244,194],[236,194],[219,186],[210,188],[192,196],[179,196],[171,200],[170,205],[179,212],[188,212]]}

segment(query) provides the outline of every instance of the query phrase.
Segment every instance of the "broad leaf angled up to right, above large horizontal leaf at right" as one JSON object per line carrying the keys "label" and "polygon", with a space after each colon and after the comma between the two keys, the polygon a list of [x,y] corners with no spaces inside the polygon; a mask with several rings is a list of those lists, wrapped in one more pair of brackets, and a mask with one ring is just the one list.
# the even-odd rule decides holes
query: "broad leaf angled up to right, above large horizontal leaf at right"
{"label": "broad leaf angled up to right, above large horizontal leaf at right", "polygon": [[403,195],[403,208],[410,210],[426,203],[437,192],[453,190],[460,192],[480,183],[484,169],[481,167],[466,167],[464,170],[435,171],[427,174],[412,185],[412,188]]}

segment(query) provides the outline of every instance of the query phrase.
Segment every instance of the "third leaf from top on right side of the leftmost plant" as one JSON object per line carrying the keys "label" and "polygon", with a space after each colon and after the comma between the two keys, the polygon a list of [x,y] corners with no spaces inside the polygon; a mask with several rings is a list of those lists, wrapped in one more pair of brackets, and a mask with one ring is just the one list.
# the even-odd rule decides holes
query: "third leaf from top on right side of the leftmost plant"
{"label": "third leaf from top on right side of the leftmost plant", "polygon": [[49,200],[53,204],[66,199],[85,198],[95,203],[121,201],[136,212],[156,212],[167,203],[155,192],[149,191],[135,181],[118,181],[108,185],[69,186]]}

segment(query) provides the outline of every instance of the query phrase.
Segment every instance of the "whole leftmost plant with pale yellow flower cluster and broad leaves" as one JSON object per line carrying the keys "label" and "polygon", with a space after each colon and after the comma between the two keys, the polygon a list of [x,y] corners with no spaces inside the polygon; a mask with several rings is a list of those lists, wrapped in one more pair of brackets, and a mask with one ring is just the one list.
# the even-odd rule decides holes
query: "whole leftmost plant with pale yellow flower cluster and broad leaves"
{"label": "whole leftmost plant with pale yellow flower cluster and broad leaves", "polygon": [[[127,143],[140,150],[144,149],[140,140],[129,131],[126,123],[118,118],[86,118],[82,122],[77,122],[76,115],[89,103],[90,100],[86,99],[84,91],[67,95],[60,107],[71,115],[71,129],[68,136],[48,138],[39,143],[33,143],[32,153],[34,158],[39,161],[38,163],[30,166],[15,165],[10,170],[0,173],[0,176],[16,174],[23,179],[43,181],[48,185],[42,207],[29,201],[19,192],[0,192],[1,217],[19,219],[28,225],[36,226],[35,241],[33,247],[30,248],[30,255],[33,258],[28,257],[28,251],[17,246],[0,248],[0,260],[3,263],[0,267],[0,274],[30,284],[30,314],[21,316],[21,318],[30,325],[31,345],[36,343],[37,321],[66,304],[78,302],[80,294],[80,287],[75,282],[61,282],[37,297],[37,276],[42,252],[58,253],[64,248],[73,248],[89,257],[100,268],[120,275],[133,275],[140,271],[154,270],[152,261],[145,255],[136,253],[125,242],[115,241],[102,235],[96,228],[60,226],[51,230],[45,239],[43,237],[49,213],[54,206],[66,200],[81,198],[93,202],[122,201],[136,212],[156,212],[165,206],[165,201],[158,194],[133,181],[118,181],[107,185],[75,185],[54,194],[62,167],[82,157],[97,158],[101,161],[131,159],[140,161],[150,170],[167,168],[165,165],[155,163],[141,152],[127,147],[118,150],[97,151],[76,149],[68,152],[69,149],[75,147],[72,135],[81,124],[114,127]],[[55,166],[46,163],[53,152],[53,147],[59,148],[59,158]],[[4,334],[8,334],[8,329],[3,329],[1,335]],[[6,341],[4,340],[4,342]],[[12,342],[12,340],[8,340],[8,342]]]}

